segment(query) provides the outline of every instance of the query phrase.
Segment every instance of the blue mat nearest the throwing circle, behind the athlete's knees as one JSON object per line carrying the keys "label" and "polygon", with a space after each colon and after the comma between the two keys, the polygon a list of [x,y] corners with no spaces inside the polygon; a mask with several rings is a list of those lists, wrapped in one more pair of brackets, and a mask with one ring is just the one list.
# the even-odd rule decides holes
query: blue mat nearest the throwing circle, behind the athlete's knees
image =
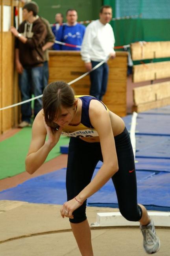
{"label": "blue mat nearest the throwing circle, behind the athlete's knees", "polygon": [[[96,168],[94,175],[98,171]],[[67,201],[65,189],[66,169],[32,178],[17,187],[0,192],[0,200],[19,200],[31,203],[63,204]],[[93,176],[94,176],[93,175]],[[170,210],[170,173],[137,171],[138,201],[157,210]],[[148,195],[148,196],[146,196]],[[91,206],[117,205],[115,188],[111,180],[87,200]],[[164,209],[163,209],[164,208]]]}

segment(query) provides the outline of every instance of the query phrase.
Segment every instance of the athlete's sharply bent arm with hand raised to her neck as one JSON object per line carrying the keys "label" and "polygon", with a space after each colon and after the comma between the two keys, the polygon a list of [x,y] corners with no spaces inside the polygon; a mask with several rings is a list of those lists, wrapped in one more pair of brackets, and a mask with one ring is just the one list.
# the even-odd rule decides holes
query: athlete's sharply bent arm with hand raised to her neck
{"label": "athlete's sharply bent arm with hand raised to her neck", "polygon": [[61,131],[62,128],[59,128],[53,133],[44,122],[42,110],[38,113],[33,122],[31,144],[25,161],[28,173],[33,174],[44,163],[49,152],[59,141]]}

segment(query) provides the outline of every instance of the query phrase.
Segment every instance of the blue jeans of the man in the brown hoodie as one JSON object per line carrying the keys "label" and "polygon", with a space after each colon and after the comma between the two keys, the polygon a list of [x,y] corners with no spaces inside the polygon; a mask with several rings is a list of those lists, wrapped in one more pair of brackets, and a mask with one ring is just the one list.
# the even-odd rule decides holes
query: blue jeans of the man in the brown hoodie
{"label": "blue jeans of the man in the brown hoodie", "polygon": [[[31,98],[32,93],[34,96],[42,94],[42,72],[43,67],[33,67],[24,69],[22,74],[19,74],[19,88],[21,91],[22,101]],[[34,117],[42,109],[42,99],[39,98],[34,102]],[[22,121],[31,122],[31,102],[21,105]]]}

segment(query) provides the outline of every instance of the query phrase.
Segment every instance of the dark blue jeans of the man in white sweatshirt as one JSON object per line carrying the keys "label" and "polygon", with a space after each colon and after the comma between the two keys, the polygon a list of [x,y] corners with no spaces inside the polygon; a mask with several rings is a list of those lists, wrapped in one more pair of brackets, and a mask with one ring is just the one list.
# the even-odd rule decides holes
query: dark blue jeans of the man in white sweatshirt
{"label": "dark blue jeans of the man in white sweatshirt", "polygon": [[[98,61],[91,61],[92,67],[96,66]],[[103,95],[107,90],[107,79],[109,74],[109,67],[107,63],[103,63],[98,69],[90,73],[91,88],[90,95],[102,100]]]}

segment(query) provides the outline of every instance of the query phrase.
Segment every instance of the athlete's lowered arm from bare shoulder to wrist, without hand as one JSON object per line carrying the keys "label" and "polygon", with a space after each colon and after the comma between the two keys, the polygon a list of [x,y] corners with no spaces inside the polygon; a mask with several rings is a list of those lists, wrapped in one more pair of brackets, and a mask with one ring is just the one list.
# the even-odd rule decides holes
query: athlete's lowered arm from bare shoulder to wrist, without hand
{"label": "athlete's lowered arm from bare shoulder to wrist, without hand", "polygon": [[89,117],[100,137],[103,165],[89,185],[79,193],[80,201],[93,195],[118,171],[115,139],[109,113],[99,101],[91,100]]}

